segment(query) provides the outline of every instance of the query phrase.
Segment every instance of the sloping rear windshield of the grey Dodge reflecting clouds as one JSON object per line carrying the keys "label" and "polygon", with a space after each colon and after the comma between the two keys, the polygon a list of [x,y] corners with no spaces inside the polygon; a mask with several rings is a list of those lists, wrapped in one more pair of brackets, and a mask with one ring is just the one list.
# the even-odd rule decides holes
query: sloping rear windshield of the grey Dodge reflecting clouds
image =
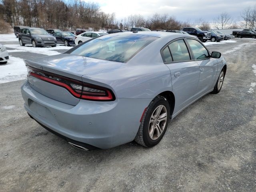
{"label": "sloping rear windshield of the grey Dodge reflecting clouds", "polygon": [[127,62],[158,37],[145,35],[106,35],[93,39],[70,52],[72,55]]}

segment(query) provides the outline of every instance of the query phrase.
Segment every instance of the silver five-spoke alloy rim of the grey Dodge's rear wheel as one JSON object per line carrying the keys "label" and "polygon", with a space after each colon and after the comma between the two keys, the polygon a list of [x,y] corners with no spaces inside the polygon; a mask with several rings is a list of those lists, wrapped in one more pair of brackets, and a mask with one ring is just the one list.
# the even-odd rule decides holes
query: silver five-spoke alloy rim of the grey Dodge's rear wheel
{"label": "silver five-spoke alloy rim of the grey Dodge's rear wheel", "polygon": [[158,139],[164,131],[167,121],[167,109],[164,105],[158,106],[151,115],[148,134],[152,140]]}

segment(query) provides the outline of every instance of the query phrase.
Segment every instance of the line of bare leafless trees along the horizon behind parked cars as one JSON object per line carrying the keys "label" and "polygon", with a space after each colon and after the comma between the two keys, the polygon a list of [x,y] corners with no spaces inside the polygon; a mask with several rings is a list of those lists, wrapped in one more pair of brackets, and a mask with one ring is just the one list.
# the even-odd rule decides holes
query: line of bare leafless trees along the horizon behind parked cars
{"label": "line of bare leafless trees along the horizon behind parked cars", "polygon": [[[1,19],[2,18],[2,19]],[[151,30],[180,30],[185,26],[210,28],[256,28],[256,6],[242,10],[240,18],[234,20],[227,12],[213,18],[210,23],[203,18],[194,22],[179,21],[168,14],[152,14],[145,18],[134,14],[117,20],[115,13],[100,10],[98,3],[82,0],[0,0],[0,31],[5,26],[24,25],[40,28],[76,30],[76,28],[129,30],[131,27],[145,27]]]}

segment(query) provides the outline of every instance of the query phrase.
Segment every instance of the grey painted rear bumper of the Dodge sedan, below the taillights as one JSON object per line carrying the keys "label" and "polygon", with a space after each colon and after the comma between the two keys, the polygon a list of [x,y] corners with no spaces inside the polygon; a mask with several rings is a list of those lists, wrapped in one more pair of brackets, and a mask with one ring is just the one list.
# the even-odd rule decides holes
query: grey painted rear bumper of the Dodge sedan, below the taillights
{"label": "grey painted rear bumper of the Dodge sedan, below the taillights", "polygon": [[[65,104],[36,92],[27,80],[21,87],[24,107],[34,120],[59,136],[96,148],[112,148],[134,140],[150,99],[112,102],[80,100]],[[88,147],[88,146],[87,146]],[[86,148],[86,147],[85,147]]]}

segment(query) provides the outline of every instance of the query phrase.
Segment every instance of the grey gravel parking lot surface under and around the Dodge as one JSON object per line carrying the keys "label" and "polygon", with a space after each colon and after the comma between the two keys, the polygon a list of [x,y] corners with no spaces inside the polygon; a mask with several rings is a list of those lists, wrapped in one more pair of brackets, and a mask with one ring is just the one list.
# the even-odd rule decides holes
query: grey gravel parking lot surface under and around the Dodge
{"label": "grey gravel parking lot surface under and around the Dodge", "polygon": [[[255,192],[256,40],[224,42],[206,43],[228,64],[220,93],[186,108],[153,148],[78,150],[28,116],[23,80],[0,84],[0,191]],[[47,55],[0,43],[14,58]]]}

